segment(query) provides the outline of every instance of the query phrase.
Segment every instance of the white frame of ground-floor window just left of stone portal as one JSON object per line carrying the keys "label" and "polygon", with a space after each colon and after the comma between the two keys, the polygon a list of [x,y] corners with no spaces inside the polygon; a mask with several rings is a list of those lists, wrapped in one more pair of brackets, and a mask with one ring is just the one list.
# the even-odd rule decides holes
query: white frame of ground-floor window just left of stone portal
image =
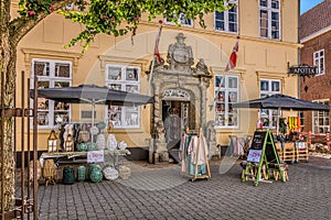
{"label": "white frame of ground-floor window just left of stone portal", "polygon": [[[120,69],[120,76],[118,79],[109,79],[109,69],[110,68],[118,68]],[[137,81],[135,80],[126,80],[127,77],[127,69],[137,69]],[[113,89],[122,90],[122,91],[129,91],[129,92],[137,92],[140,94],[140,75],[141,75],[141,68],[139,66],[126,66],[126,65],[113,65],[107,64],[106,65],[106,86]],[[115,86],[115,87],[111,87]],[[135,90],[128,90],[128,88],[136,88]],[[139,107],[117,107],[117,106],[108,106],[106,107],[106,121],[108,123],[113,123],[114,129],[137,129],[141,127],[141,114],[140,114],[140,108]],[[113,116],[120,116],[119,120],[114,120]],[[128,124],[126,122],[127,116],[134,116],[137,113],[137,118],[132,119],[132,121],[137,121],[135,124]],[[134,117],[135,118],[135,117]]]}

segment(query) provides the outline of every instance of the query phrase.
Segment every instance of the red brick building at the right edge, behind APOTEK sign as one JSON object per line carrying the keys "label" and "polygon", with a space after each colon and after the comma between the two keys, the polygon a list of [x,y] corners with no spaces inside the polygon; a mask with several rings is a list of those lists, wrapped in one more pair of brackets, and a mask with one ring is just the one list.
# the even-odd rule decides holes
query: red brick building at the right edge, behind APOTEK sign
{"label": "red brick building at the right edge, behind APOTEK sign", "polygon": [[[331,0],[324,0],[300,16],[300,63],[317,66],[314,77],[301,77],[300,98],[329,105],[331,90]],[[330,131],[329,112],[302,112],[305,131]]]}

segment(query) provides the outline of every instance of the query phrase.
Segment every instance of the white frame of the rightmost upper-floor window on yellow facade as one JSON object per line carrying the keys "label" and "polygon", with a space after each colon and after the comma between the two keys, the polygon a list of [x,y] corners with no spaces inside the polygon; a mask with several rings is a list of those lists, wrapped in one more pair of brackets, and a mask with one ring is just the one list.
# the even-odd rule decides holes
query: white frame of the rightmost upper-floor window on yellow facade
{"label": "white frame of the rightmost upper-floor window on yellow facade", "polygon": [[[281,0],[265,0],[267,2],[267,6],[260,6],[261,0],[258,1],[258,32],[259,32],[259,36],[264,37],[264,38],[270,38],[270,40],[280,40],[281,36],[281,13],[280,13],[280,8],[281,8]],[[278,2],[278,9],[273,8],[273,2],[276,1]],[[267,36],[261,36],[261,16],[260,16],[260,12],[261,11],[267,11],[267,24],[268,24],[268,34]],[[278,13],[278,37],[273,37],[273,13]]]}

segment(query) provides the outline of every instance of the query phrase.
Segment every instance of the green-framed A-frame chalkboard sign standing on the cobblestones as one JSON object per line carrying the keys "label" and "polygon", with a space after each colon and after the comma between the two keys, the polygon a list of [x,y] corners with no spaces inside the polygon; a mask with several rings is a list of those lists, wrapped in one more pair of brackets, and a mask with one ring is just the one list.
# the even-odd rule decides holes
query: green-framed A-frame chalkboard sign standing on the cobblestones
{"label": "green-framed A-frame chalkboard sign standing on the cobblestones", "polygon": [[257,186],[261,180],[268,182],[268,174],[271,172],[280,174],[282,182],[286,180],[273,134],[269,130],[256,131],[248,151],[247,164],[242,175],[243,182],[250,179]]}

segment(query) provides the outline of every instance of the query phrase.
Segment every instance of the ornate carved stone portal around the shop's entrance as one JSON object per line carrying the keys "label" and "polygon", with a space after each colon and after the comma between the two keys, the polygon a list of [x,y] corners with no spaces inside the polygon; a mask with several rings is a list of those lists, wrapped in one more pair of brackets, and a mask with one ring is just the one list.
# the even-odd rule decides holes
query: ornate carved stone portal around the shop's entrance
{"label": "ornate carved stone portal around the shop's entrance", "polygon": [[[177,147],[184,127],[206,128],[206,90],[212,75],[203,58],[194,65],[192,47],[179,33],[177,43],[168,48],[164,59],[156,64],[152,74],[153,141],[150,153],[156,163],[169,160],[168,151]],[[151,154],[150,154],[151,155]],[[150,157],[151,161],[151,157]]]}

